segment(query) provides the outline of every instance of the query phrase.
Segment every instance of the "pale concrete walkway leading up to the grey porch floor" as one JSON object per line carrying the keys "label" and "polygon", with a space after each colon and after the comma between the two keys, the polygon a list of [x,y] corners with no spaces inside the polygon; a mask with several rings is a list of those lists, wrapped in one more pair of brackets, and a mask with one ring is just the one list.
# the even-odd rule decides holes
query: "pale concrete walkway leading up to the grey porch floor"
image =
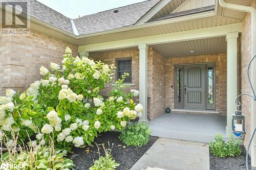
{"label": "pale concrete walkway leading up to the grey porch floor", "polygon": [[209,169],[205,143],[159,138],[131,170]]}

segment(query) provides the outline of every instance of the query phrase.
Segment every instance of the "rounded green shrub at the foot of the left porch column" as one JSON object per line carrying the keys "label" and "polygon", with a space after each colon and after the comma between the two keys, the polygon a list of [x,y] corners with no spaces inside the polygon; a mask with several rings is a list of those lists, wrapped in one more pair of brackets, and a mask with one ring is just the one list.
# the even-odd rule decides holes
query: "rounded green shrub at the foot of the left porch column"
{"label": "rounded green shrub at the foot of the left porch column", "polygon": [[150,140],[151,130],[145,122],[126,126],[119,138],[127,146],[142,147]]}

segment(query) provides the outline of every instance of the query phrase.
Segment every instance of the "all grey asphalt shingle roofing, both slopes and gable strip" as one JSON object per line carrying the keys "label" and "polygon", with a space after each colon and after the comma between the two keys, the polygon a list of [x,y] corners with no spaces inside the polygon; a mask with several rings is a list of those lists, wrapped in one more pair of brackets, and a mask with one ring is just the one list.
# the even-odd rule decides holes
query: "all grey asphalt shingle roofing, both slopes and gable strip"
{"label": "all grey asphalt shingle roofing, both slopes and gable strip", "polygon": [[[28,6],[28,13],[31,16],[45,21],[59,29],[74,34],[70,18],[45,6],[44,4],[37,2],[36,0],[28,1],[30,3]],[[127,5],[120,8],[82,16],[80,18],[73,19],[73,21],[79,35],[98,33],[102,31],[132,26],[160,1],[161,0],[148,0],[137,4]],[[12,4],[12,2],[6,3]],[[214,10],[214,6],[168,14],[148,22],[205,12],[209,10]]]}

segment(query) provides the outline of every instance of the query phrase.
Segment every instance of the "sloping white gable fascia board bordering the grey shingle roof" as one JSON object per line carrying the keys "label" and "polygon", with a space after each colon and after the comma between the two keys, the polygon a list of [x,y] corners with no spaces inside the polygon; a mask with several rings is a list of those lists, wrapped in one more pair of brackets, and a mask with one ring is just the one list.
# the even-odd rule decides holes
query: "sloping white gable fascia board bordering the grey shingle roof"
{"label": "sloping white gable fascia board bordering the grey shingle roof", "polygon": [[167,5],[172,0],[162,0],[161,2],[157,3],[150,11],[148,11],[144,16],[142,16],[136,23],[145,23],[150,20],[154,15],[156,15],[165,5]]}

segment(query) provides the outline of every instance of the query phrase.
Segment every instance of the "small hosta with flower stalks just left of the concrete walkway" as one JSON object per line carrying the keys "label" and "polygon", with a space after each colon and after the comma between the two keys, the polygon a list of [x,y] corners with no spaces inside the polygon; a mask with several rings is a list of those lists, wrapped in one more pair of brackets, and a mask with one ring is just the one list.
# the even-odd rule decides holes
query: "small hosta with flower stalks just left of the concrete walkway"
{"label": "small hosta with flower stalks just left of the concrete walkway", "polygon": [[118,166],[120,166],[120,164],[117,163],[111,155],[111,150],[113,148],[114,143],[112,143],[112,147],[110,147],[110,143],[109,143],[108,149],[105,148],[104,143],[102,143],[101,145],[104,150],[105,156],[100,156],[99,146],[97,145],[99,159],[94,161],[93,166],[91,166],[89,170],[105,170],[105,169],[115,170]]}

